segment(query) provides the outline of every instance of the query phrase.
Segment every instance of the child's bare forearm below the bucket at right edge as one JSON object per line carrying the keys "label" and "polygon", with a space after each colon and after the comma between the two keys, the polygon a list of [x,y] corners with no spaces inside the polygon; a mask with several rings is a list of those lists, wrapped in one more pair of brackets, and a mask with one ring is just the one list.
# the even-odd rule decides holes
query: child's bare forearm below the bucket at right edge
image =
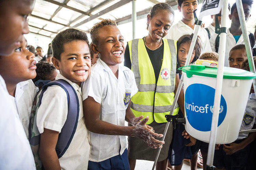
{"label": "child's bare forearm below the bucket at right edge", "polygon": [[[253,129],[255,129],[255,128],[256,128],[256,124],[254,124],[254,126],[253,126]],[[241,149],[244,149],[249,143],[251,143],[255,139],[256,139],[256,132],[249,133],[247,138],[245,138],[240,143],[229,143],[230,146],[227,146],[226,144],[223,145],[223,150],[228,155],[233,154]]]}

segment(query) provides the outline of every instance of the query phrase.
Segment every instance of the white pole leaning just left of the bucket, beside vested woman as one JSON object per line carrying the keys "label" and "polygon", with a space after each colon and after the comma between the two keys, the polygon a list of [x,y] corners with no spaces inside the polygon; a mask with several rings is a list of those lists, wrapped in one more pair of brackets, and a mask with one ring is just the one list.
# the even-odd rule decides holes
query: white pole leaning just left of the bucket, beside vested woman
{"label": "white pole leaning just left of the bucket, beside vested woman", "polygon": [[[199,20],[201,20],[201,19],[202,19],[202,17],[200,18],[200,16],[199,16]],[[185,62],[185,66],[189,65],[189,61],[190,61],[190,58],[192,56],[192,53],[194,51],[194,47],[195,47],[195,44],[196,44],[196,40],[197,40],[197,36],[198,36],[198,31],[199,31],[199,28],[201,28],[201,26],[196,25],[196,24],[195,24],[194,27],[195,27],[195,33],[194,33],[193,38],[191,40],[191,44],[190,44],[190,47],[189,47],[189,51],[188,51],[187,59],[186,59],[186,62]],[[173,112],[174,112],[174,109],[175,109],[175,105],[177,104],[177,101],[178,101],[178,98],[179,98],[179,95],[180,95],[180,92],[181,92],[183,80],[184,80],[184,78],[183,78],[183,74],[182,74],[180,82],[179,82],[179,86],[177,88],[177,91],[176,91],[176,94],[174,96],[174,100],[173,100],[173,103],[172,103],[173,107],[172,107],[169,115],[173,115]],[[165,131],[163,132],[162,141],[165,140],[165,136],[166,136],[169,124],[170,124],[170,122],[166,123]],[[157,163],[160,151],[161,151],[161,148],[159,148],[158,151],[157,151],[155,162],[154,162],[154,165],[152,167],[152,170],[155,169],[155,166],[156,166],[156,163]]]}

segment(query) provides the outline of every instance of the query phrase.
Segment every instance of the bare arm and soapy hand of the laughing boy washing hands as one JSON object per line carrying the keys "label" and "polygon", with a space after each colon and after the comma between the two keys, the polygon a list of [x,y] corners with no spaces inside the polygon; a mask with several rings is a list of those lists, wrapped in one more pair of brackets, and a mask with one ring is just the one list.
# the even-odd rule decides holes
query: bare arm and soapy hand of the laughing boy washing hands
{"label": "bare arm and soapy hand of the laughing boy washing hands", "polygon": [[[154,133],[151,129],[147,128],[145,123],[148,121],[148,117],[139,121],[133,126],[119,126],[112,123],[100,120],[100,103],[96,102],[93,97],[88,96],[83,101],[85,124],[89,131],[104,135],[125,135],[136,136],[144,140],[151,148],[160,148],[164,141],[156,140],[155,137],[162,137],[162,134]],[[126,120],[132,119],[132,115],[126,116]],[[142,119],[143,116],[139,116],[138,119]],[[131,120],[128,120],[131,122]]]}

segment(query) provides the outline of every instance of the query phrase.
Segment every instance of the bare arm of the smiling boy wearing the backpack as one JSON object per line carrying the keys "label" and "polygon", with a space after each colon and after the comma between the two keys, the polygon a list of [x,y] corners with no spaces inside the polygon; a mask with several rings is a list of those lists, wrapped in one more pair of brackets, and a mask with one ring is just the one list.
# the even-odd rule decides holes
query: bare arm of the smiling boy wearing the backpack
{"label": "bare arm of the smiling boy wearing the backpack", "polygon": [[55,151],[59,132],[44,128],[40,135],[39,156],[44,169],[60,170],[59,159]]}

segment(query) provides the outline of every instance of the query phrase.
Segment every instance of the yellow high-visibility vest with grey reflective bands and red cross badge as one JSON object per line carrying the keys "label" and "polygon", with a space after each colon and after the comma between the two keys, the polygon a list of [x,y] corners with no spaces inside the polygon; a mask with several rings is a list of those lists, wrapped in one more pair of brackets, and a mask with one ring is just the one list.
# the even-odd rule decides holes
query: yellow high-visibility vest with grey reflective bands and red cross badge
{"label": "yellow high-visibility vest with grey reflective bands and red cross badge", "polygon": [[[131,98],[131,110],[137,117],[149,117],[146,124],[155,120],[157,123],[167,122],[168,115],[173,107],[177,41],[163,39],[163,60],[156,83],[155,72],[147,54],[142,38],[128,42],[131,70],[134,73],[138,92]],[[179,112],[176,105],[173,115]]]}

